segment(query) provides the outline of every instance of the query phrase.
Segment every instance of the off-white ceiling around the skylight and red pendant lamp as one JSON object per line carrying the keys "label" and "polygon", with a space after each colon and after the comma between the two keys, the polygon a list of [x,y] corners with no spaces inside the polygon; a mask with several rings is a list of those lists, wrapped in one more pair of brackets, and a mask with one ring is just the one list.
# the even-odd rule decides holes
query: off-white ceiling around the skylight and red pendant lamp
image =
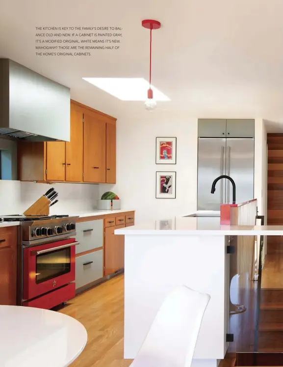
{"label": "off-white ceiling around the skylight and red pendant lamp", "polygon": [[[149,30],[141,21],[157,19],[152,83],[171,101],[154,113],[283,122],[282,0],[71,2],[3,1],[0,57],[69,86],[73,99],[105,113],[146,115],[143,102],[121,101],[81,78],[148,79]],[[121,27],[123,37],[119,50],[91,57],[35,56],[35,27],[44,26]]]}

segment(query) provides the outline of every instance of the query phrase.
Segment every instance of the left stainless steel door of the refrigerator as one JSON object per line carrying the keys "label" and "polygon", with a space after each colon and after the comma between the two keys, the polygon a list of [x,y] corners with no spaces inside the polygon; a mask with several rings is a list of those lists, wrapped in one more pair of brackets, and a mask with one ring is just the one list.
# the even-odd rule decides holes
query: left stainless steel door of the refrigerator
{"label": "left stainless steel door of the refrigerator", "polygon": [[226,174],[226,139],[198,140],[198,210],[220,210],[225,199],[225,179],[217,182],[214,194],[211,185],[216,177]]}

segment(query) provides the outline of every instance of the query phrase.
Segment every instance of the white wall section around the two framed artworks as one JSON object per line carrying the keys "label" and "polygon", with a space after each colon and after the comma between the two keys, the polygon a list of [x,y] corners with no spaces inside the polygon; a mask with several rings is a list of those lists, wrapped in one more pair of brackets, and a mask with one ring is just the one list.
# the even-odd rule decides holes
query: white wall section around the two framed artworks
{"label": "white wall section around the two framed artworks", "polygon": [[[177,137],[177,164],[155,164],[155,137]],[[117,185],[122,207],[136,210],[136,221],[166,218],[197,208],[197,118],[148,113],[117,120]],[[176,171],[176,199],[155,198],[155,172]]]}

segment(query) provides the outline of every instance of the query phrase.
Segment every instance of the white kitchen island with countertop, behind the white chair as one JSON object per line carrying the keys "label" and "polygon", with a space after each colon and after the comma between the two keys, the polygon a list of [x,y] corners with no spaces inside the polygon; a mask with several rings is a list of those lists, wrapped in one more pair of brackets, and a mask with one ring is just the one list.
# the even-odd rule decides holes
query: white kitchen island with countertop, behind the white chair
{"label": "white kitchen island with countertop, behind the white chair", "polygon": [[162,301],[180,284],[211,296],[193,366],[216,367],[225,357],[231,316],[231,241],[236,238],[239,253],[244,251],[244,262],[235,275],[242,272],[252,283],[256,236],[282,235],[283,226],[221,226],[219,216],[219,212],[195,212],[115,230],[125,235],[124,358],[136,357]]}

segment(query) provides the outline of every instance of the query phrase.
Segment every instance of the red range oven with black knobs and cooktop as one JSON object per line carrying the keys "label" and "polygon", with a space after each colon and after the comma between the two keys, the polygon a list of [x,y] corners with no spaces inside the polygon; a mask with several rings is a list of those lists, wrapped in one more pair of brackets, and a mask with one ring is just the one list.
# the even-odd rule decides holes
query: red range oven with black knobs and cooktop
{"label": "red range oven with black knobs and cooktop", "polygon": [[68,216],[6,216],[22,225],[21,305],[51,309],[76,295],[76,221]]}

